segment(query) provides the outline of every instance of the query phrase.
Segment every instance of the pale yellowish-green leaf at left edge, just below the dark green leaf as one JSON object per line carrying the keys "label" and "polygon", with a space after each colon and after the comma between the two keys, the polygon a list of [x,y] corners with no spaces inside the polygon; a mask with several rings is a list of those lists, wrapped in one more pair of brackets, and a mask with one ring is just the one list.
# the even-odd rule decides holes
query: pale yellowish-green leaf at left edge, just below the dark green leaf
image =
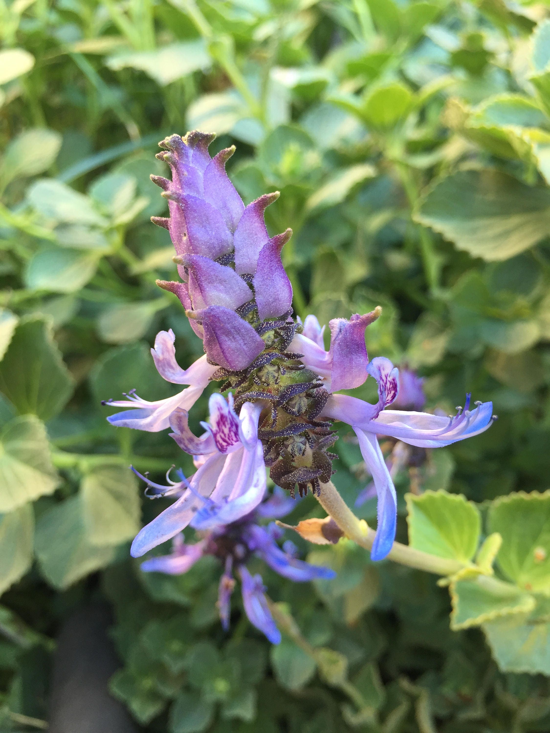
{"label": "pale yellowish-green leaf at left edge, just below the dark green leaf", "polygon": [[43,424],[32,415],[11,420],[0,433],[0,512],[11,512],[59,485]]}

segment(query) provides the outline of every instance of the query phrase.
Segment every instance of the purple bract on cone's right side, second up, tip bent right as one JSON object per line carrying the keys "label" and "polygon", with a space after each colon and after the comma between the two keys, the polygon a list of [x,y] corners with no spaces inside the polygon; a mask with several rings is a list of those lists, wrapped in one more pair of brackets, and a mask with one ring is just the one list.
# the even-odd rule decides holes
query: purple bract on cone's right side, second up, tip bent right
{"label": "purple bract on cone's right side, second up, tip bent right", "polygon": [[279,198],[279,191],[260,196],[243,211],[241,221],[235,229],[235,270],[239,275],[254,275],[258,255],[268,243],[268,230],[263,220],[265,209]]}

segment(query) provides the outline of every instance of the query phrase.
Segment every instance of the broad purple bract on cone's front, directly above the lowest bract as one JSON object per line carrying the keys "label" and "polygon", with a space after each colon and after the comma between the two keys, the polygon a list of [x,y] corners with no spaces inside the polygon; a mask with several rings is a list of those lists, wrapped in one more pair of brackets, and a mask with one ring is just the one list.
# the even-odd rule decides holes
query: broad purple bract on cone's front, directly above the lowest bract
{"label": "broad purple bract on cone's front, directly above the lowest bract", "polygon": [[189,270],[189,293],[195,311],[208,306],[234,311],[252,300],[252,290],[235,270],[197,254],[186,254],[181,262]]}

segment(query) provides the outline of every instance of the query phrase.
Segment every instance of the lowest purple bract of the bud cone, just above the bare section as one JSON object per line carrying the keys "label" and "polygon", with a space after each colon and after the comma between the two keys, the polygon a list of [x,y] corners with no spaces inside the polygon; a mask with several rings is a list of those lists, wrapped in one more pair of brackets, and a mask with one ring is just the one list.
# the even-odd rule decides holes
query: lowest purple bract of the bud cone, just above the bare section
{"label": "lowest purple bract of the bud cone, just above the bare section", "polygon": [[209,306],[186,315],[202,323],[208,358],[224,369],[246,369],[265,348],[252,325],[229,308]]}

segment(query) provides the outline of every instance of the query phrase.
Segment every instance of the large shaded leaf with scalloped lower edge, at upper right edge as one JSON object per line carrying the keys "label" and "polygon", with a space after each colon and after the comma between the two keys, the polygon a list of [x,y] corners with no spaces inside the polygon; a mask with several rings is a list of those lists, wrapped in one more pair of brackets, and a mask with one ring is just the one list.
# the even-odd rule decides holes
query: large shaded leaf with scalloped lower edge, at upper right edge
{"label": "large shaded leaf with scalloped lower edge, at upper right edge", "polygon": [[473,257],[508,259],[548,235],[550,191],[495,170],[460,171],[428,191],[414,218]]}

